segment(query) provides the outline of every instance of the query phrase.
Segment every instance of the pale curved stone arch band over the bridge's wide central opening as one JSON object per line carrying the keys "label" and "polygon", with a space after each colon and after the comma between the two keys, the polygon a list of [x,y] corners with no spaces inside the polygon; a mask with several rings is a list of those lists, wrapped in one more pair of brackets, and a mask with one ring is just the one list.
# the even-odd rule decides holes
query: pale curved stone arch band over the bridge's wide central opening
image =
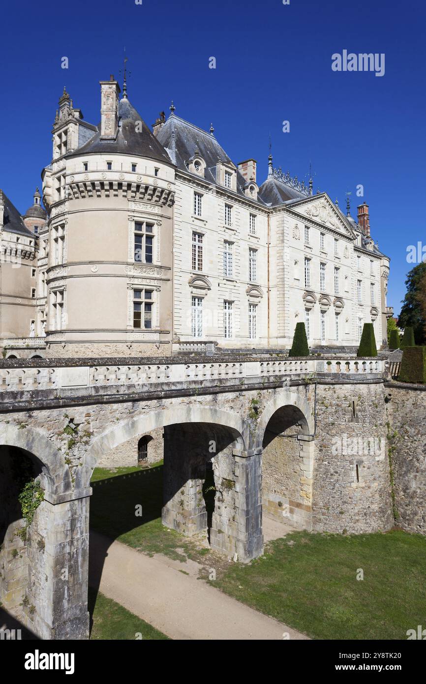
{"label": "pale curved stone arch band over the bridge's wide central opening", "polygon": [[107,428],[89,448],[87,466],[89,469],[93,469],[96,466],[96,461],[105,451],[111,451],[114,447],[138,434],[144,435],[156,428],[164,428],[165,425],[177,425],[178,423],[223,425],[239,434],[236,436],[239,448],[245,449],[248,445],[248,426],[239,415],[220,410],[215,406],[196,406],[194,404],[176,406],[172,404],[166,408],[139,413]]}

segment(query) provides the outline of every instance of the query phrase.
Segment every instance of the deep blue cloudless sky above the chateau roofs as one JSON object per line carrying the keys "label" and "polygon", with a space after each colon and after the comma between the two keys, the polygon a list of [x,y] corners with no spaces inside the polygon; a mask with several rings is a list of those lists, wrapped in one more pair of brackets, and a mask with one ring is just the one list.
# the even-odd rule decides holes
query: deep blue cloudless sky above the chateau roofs
{"label": "deep blue cloudless sky above the chateau roofs", "polygon": [[[64,85],[97,123],[98,81],[119,77],[125,46],[129,99],[148,124],[173,99],[178,116],[204,129],[213,122],[235,162],[254,157],[260,182],[270,132],[274,166],[307,181],[312,161],[314,189],[341,207],[349,190],[354,217],[365,200],[372,235],[392,259],[388,304],[399,313],[407,247],[426,245],[423,3],[25,0],[5,5],[2,18],[0,187],[21,212],[51,160]],[[332,71],[343,49],[384,53],[384,76]]]}

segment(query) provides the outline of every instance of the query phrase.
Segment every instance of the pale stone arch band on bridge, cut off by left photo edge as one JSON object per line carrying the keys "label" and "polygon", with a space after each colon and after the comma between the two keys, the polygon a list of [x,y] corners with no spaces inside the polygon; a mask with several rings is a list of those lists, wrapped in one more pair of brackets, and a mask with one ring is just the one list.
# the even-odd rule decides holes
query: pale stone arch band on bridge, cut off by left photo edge
{"label": "pale stone arch band on bridge, cut off by left photo edge", "polygon": [[42,464],[45,498],[53,501],[71,490],[71,476],[64,456],[51,440],[38,430],[0,424],[0,445],[18,447],[33,454]]}

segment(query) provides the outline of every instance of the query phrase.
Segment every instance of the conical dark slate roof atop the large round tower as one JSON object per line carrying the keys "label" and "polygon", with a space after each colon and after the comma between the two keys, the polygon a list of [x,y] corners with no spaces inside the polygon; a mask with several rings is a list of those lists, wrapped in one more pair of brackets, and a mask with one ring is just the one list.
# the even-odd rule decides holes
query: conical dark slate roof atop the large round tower
{"label": "conical dark slate roof atop the large round tower", "polygon": [[[141,131],[136,131],[135,122],[141,122]],[[134,155],[135,157],[147,157],[163,163],[170,164],[170,158],[161,143],[132,107],[127,98],[122,98],[118,103],[118,134],[116,140],[101,140],[101,125],[98,131],[67,158],[80,155],[120,153]]]}

